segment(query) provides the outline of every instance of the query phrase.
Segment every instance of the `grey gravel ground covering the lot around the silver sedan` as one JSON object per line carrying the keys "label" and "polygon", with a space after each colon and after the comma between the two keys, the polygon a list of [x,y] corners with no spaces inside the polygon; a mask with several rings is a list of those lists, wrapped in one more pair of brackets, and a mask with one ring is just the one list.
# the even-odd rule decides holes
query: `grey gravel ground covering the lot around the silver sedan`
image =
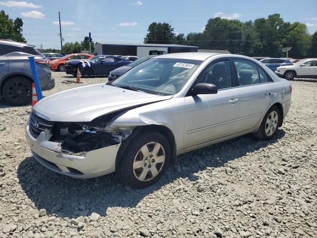
{"label": "grey gravel ground covering the lot around the silver sedan", "polygon": [[[50,95],[105,82],[53,72]],[[317,84],[292,81],[292,106],[270,141],[250,135],[178,157],[131,190],[115,175],[77,180],[37,163],[25,141],[31,106],[0,102],[0,238],[317,237]]]}

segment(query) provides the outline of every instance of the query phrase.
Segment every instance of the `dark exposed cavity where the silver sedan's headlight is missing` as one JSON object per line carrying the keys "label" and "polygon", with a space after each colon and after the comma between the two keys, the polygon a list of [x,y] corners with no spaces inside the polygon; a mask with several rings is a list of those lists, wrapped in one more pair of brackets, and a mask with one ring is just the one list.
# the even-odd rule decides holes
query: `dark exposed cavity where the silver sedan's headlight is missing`
{"label": "dark exposed cavity where the silver sedan's headlight is missing", "polygon": [[55,122],[50,141],[60,143],[65,153],[80,153],[119,144],[124,132],[106,131],[75,122]]}

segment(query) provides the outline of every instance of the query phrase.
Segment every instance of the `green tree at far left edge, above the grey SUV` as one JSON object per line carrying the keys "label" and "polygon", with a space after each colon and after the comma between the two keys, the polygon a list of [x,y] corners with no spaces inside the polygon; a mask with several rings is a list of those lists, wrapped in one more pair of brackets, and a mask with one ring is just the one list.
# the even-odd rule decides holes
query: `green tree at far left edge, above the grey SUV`
{"label": "green tree at far left edge, above the grey SUV", "polygon": [[17,42],[26,43],[22,36],[23,21],[17,17],[14,21],[5,14],[3,10],[0,11],[0,38],[11,39]]}

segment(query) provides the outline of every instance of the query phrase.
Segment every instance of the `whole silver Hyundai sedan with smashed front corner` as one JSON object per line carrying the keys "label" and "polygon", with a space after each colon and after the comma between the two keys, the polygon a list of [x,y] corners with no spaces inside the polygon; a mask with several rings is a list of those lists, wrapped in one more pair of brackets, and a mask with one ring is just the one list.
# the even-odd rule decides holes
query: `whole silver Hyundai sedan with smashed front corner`
{"label": "whole silver Hyundai sedan with smashed front corner", "polygon": [[289,111],[291,89],[249,57],[161,55],[113,82],[40,100],[26,138],[34,158],[56,173],[87,179],[116,172],[143,188],[177,155],[247,133],[271,139]]}

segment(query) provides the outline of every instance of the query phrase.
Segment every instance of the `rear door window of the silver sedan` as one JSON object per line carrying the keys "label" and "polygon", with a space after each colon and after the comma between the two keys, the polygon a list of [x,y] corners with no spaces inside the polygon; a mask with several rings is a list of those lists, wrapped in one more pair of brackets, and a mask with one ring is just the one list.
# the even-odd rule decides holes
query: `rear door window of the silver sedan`
{"label": "rear door window of the silver sedan", "polygon": [[238,73],[239,86],[260,83],[258,67],[248,60],[234,60],[234,65]]}

